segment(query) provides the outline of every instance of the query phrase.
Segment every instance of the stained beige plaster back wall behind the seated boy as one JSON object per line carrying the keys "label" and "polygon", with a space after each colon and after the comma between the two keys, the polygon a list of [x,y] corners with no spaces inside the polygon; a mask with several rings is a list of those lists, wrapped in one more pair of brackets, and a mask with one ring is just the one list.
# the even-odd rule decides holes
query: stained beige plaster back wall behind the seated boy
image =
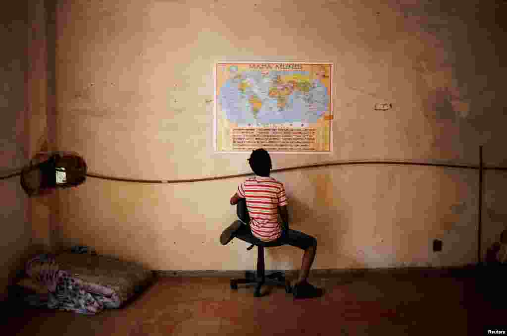
{"label": "stained beige plaster back wall behind the seated boy", "polygon": [[[55,141],[105,175],[246,173],[247,153],[213,153],[213,63],[330,61],[334,152],[272,154],[275,169],[352,159],[478,164],[480,145],[487,164],[507,165],[504,12],[500,2],[61,1]],[[375,111],[376,103],[393,108]],[[292,227],[319,241],[316,268],[477,261],[476,171],[354,165],[274,176],[285,183]],[[488,197],[504,200],[491,179]],[[218,242],[240,181],[90,178],[59,193],[56,239],[157,270],[251,268],[246,244]],[[501,199],[488,202],[503,209]],[[505,222],[484,225],[494,236]],[[442,252],[432,252],[433,239]],[[267,252],[268,268],[300,261],[292,247]]]}

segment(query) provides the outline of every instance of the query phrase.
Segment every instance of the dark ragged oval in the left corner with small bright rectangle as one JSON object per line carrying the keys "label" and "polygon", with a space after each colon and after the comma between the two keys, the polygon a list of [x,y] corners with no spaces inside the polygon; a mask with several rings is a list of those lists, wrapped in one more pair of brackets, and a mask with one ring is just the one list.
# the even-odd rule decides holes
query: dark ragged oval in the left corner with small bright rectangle
{"label": "dark ragged oval in the left corner with small bright rectangle", "polygon": [[50,194],[84,183],[86,172],[86,162],[76,152],[39,152],[21,172],[21,187],[30,197]]}

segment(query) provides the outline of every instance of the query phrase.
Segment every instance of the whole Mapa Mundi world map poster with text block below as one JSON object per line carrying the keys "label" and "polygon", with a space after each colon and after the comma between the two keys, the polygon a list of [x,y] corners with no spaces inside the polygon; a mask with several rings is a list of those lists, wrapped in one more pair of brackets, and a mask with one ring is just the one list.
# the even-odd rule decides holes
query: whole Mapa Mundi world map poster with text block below
{"label": "whole Mapa Mundi world map poster with text block below", "polygon": [[215,151],[332,151],[332,63],[219,62],[214,74]]}

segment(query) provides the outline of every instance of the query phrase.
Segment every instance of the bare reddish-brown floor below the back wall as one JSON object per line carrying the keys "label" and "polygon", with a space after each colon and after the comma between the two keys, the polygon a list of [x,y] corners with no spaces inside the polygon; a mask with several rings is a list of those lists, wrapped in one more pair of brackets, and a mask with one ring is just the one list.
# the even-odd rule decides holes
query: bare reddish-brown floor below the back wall
{"label": "bare reddish-brown floor below the back wall", "polygon": [[256,298],[251,287],[231,290],[226,278],[161,278],[125,308],[96,316],[15,312],[7,334],[476,335],[487,334],[484,325],[507,324],[507,310],[493,308],[473,277],[368,275],[311,282],[324,288],[323,297],[294,300],[284,288],[272,288]]}

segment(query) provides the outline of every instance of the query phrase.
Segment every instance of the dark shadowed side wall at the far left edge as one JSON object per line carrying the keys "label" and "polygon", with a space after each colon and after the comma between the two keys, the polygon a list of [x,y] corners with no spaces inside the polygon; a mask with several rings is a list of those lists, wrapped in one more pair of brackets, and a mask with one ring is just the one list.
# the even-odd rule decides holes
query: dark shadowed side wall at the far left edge
{"label": "dark shadowed side wall at the far left edge", "polygon": [[[27,160],[26,113],[26,4],[5,6],[0,13],[0,40],[9,41],[0,53],[0,176],[12,173]],[[30,243],[28,200],[19,178],[0,180],[0,300],[22,269]]]}

